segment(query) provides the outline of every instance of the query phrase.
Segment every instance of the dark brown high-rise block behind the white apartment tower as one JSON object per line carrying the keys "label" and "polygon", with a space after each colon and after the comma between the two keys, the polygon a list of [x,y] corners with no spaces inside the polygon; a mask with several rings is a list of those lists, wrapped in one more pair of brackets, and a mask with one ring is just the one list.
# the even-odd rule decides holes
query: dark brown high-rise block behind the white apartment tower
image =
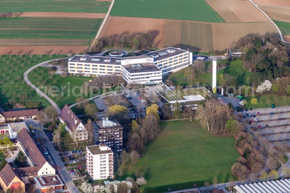
{"label": "dark brown high-rise block behind the white apartment tower", "polygon": [[94,143],[96,145],[108,145],[115,154],[123,150],[123,127],[116,120],[104,118],[102,121],[94,121]]}

